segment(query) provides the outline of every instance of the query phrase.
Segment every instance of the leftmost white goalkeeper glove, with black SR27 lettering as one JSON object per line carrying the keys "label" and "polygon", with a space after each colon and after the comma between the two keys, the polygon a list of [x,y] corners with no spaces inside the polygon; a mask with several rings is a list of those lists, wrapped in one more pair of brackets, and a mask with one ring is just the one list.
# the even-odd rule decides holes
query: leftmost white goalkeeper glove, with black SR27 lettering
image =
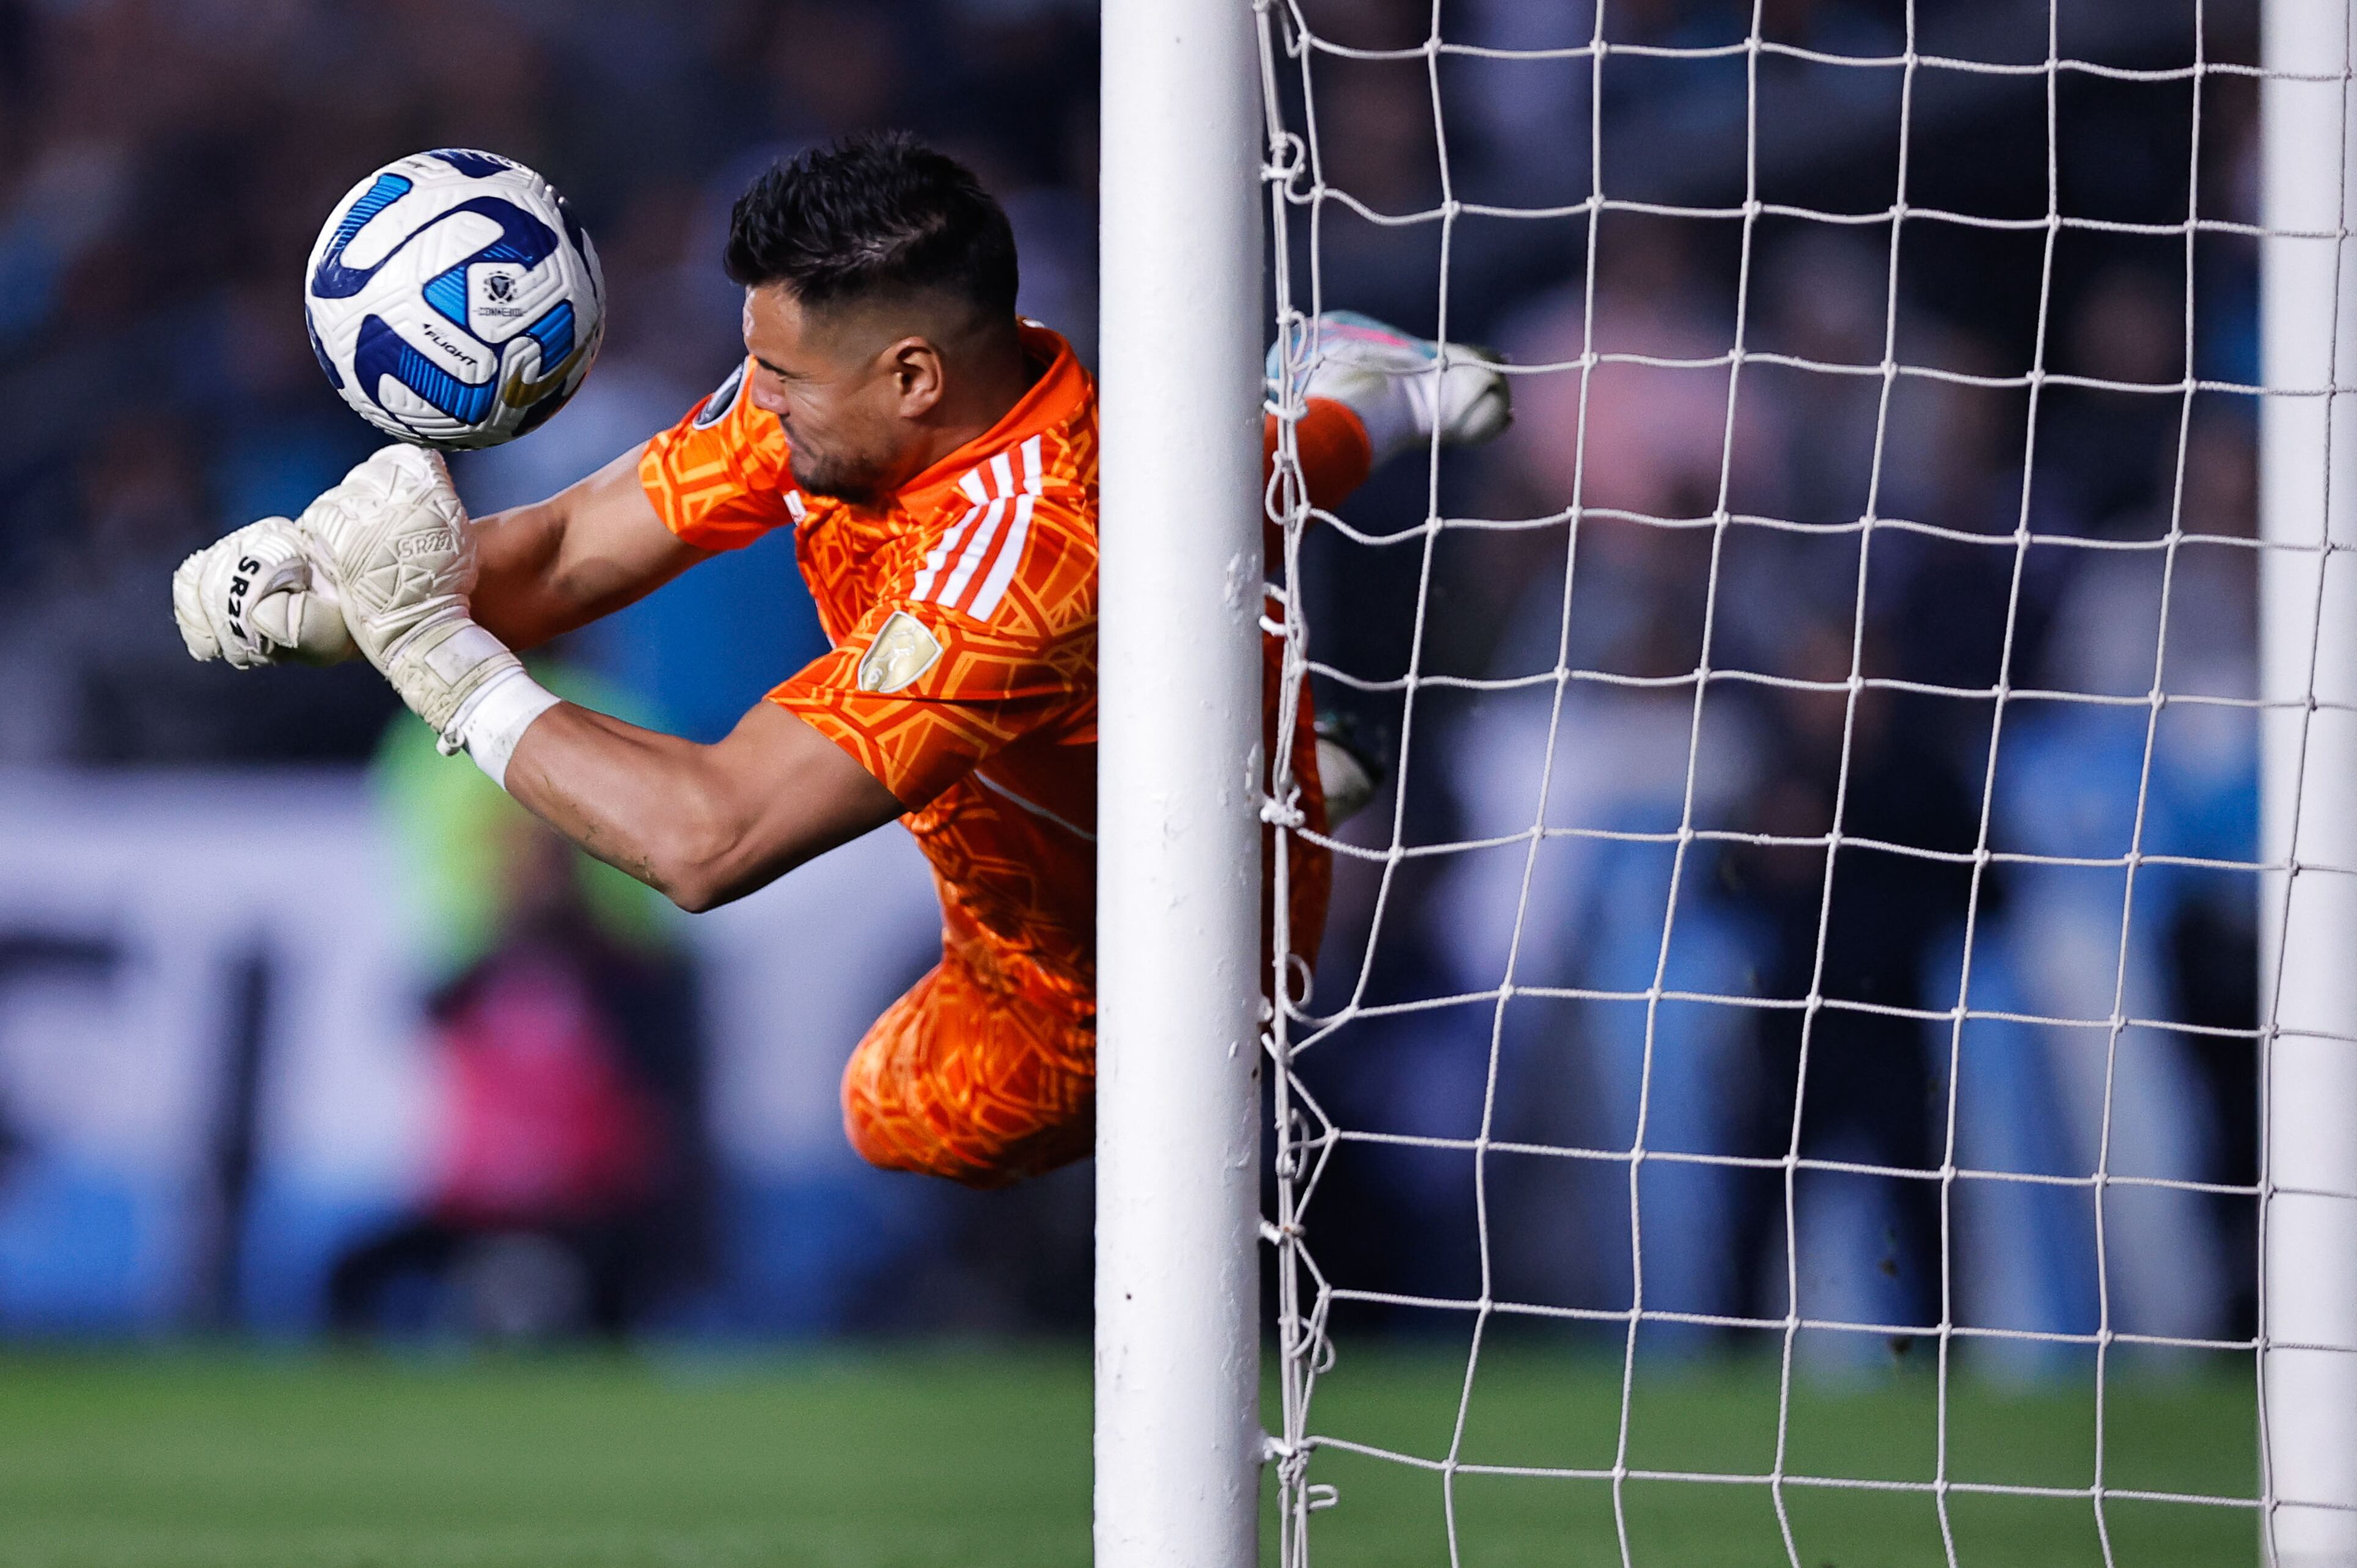
{"label": "leftmost white goalkeeper glove, with black SR27 lettering", "polygon": [[217,658],[231,670],[335,665],[358,653],[335,585],[285,516],[247,523],[181,561],[172,573],[172,620],[191,658]]}

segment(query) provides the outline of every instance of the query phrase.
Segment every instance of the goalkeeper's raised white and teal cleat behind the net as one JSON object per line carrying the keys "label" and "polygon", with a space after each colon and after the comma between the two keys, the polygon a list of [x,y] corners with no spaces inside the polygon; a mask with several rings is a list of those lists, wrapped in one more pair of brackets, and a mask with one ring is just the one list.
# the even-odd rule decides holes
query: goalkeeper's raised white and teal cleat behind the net
{"label": "goalkeeper's raised white and teal cleat behind the net", "polygon": [[1273,396],[1285,394],[1287,347],[1299,377],[1292,394],[1351,408],[1376,462],[1428,446],[1435,429],[1440,446],[1475,446],[1513,422],[1513,389],[1499,370],[1506,361],[1490,349],[1409,337],[1358,311],[1325,311],[1296,323],[1292,344],[1270,344]]}

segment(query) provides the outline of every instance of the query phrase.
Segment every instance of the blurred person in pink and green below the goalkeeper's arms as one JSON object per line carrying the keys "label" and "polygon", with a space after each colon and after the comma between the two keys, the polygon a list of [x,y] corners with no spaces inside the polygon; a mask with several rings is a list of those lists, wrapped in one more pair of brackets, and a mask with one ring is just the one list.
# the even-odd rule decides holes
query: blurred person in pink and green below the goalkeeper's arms
{"label": "blurred person in pink and green below the goalkeeper's arms", "polygon": [[441,1153],[415,1212],[344,1250],[328,1320],[643,1327],[712,1269],[693,974],[643,889],[431,752],[396,726],[379,788],[450,976],[427,1007]]}

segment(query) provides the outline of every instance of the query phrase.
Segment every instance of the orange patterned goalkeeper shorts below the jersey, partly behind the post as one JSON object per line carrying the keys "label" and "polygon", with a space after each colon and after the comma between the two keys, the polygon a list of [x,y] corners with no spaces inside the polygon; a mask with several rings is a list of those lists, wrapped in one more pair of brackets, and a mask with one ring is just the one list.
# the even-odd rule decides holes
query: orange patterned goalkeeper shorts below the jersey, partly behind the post
{"label": "orange patterned goalkeeper shorts below the jersey, partly behind the post", "polygon": [[[1275,667],[1270,639],[1270,667]],[[1275,729],[1275,679],[1268,681]],[[1313,830],[1325,830],[1318,752],[1303,700],[1294,773]],[[1263,865],[1275,865],[1263,832]],[[1292,948],[1315,962],[1332,891],[1329,851],[1289,844]],[[1263,872],[1270,908],[1275,872]],[[844,1070],[844,1132],[870,1165],[1004,1186],[1082,1160],[1096,1144],[1096,1004],[1016,986],[952,936],[943,957],[884,1009]],[[1261,950],[1268,950],[1263,927]]]}

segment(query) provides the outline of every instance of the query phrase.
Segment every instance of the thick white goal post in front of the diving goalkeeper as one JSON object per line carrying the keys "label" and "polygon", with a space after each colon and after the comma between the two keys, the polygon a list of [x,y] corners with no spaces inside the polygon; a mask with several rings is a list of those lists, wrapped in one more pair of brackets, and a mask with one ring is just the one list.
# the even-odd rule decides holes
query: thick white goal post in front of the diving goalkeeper
{"label": "thick white goal post in front of the diving goalkeeper", "polygon": [[1098,1568],[1256,1563],[1254,50],[1247,0],[1103,7]]}

